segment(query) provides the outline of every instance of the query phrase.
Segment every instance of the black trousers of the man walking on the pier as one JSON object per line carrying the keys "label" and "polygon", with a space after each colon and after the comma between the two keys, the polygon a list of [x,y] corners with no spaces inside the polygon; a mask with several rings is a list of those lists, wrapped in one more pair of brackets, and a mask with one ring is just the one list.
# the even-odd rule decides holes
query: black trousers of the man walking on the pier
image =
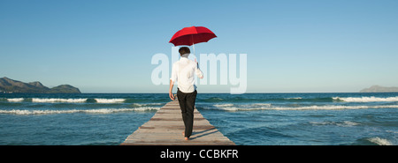
{"label": "black trousers of the man walking on the pier", "polygon": [[196,100],[196,90],[193,93],[182,93],[177,91],[177,98],[180,102],[182,121],[185,125],[185,137],[191,137],[194,128],[194,109]]}

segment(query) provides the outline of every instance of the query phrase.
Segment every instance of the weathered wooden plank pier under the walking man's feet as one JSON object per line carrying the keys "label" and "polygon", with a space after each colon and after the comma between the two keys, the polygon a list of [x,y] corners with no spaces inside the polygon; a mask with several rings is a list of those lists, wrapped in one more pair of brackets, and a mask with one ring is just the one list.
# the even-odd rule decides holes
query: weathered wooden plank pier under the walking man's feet
{"label": "weathered wooden plank pier under the walking man's feet", "polygon": [[174,100],[161,107],[121,145],[234,145],[196,109],[194,130],[189,140],[184,139],[184,130],[179,101]]}

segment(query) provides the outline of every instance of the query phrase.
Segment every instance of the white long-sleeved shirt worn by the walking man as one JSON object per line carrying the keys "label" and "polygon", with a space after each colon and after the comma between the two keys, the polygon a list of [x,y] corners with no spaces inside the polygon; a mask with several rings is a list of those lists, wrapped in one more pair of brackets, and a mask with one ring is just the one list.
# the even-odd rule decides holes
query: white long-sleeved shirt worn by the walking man
{"label": "white long-sleeved shirt worn by the walking man", "polygon": [[193,93],[196,90],[195,73],[197,77],[203,78],[203,72],[197,64],[187,57],[180,57],[180,61],[172,64],[172,78],[174,83],[178,81],[178,88],[182,93]]}

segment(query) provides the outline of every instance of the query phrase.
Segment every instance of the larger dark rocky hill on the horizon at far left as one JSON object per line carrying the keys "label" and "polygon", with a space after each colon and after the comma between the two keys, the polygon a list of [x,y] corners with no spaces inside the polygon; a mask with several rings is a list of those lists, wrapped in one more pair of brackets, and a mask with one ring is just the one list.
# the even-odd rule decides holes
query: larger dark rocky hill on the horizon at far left
{"label": "larger dark rocky hill on the horizon at far left", "polygon": [[0,93],[80,93],[80,90],[72,85],[49,88],[38,81],[24,83],[4,77],[0,78]]}

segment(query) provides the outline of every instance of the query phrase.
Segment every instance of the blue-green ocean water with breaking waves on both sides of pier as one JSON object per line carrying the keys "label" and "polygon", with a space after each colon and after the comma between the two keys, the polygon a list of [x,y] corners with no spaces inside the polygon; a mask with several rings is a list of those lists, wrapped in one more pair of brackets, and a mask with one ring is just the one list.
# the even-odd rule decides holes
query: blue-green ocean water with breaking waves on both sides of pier
{"label": "blue-green ocean water with breaking waves on both sides of pier", "polygon": [[[0,144],[120,144],[168,101],[166,93],[0,94]],[[235,144],[398,144],[398,93],[199,91],[196,108]]]}

